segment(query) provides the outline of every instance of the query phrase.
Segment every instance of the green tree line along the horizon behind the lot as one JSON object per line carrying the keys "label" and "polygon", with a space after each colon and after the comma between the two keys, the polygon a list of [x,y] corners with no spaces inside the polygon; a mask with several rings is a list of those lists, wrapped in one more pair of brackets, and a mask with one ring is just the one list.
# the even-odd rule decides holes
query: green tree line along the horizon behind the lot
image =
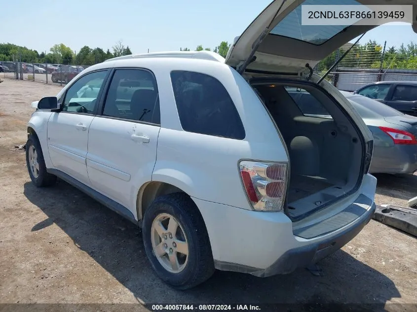
{"label": "green tree line along the horizon behind the lot", "polygon": [[[220,42],[213,49],[197,45],[194,51],[213,51],[226,57],[230,43],[227,41]],[[182,51],[190,51],[188,47],[181,47]],[[318,71],[326,71],[341,57],[345,49],[339,49],[328,55],[317,65]],[[90,66],[105,60],[132,54],[129,46],[125,46],[121,40],[117,41],[112,47],[112,51],[102,48],[91,48],[83,46],[79,51],[74,51],[63,43],[55,44],[49,52],[38,53],[37,50],[28,49],[27,47],[18,46],[12,43],[0,43],[0,61],[12,61],[22,58],[22,62],[34,63],[52,63],[52,64],[72,64]],[[339,67],[355,68],[379,68],[382,60],[383,69],[417,69],[417,43],[413,41],[407,45],[401,44],[399,48],[395,46],[385,48],[375,40],[369,40],[364,44],[356,44],[350,52],[343,58]]]}

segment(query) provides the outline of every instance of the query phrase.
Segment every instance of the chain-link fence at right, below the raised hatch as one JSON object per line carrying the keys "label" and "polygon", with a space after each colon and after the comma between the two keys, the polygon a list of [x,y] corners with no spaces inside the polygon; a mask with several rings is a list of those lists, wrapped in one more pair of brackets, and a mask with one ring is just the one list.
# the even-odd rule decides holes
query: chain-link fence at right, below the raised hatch
{"label": "chain-link fence at right, below the raised hatch", "polygon": [[[345,44],[317,64],[323,75],[353,44]],[[326,78],[338,89],[355,91],[377,81],[417,81],[417,44],[387,47],[375,41],[358,43],[341,59]]]}

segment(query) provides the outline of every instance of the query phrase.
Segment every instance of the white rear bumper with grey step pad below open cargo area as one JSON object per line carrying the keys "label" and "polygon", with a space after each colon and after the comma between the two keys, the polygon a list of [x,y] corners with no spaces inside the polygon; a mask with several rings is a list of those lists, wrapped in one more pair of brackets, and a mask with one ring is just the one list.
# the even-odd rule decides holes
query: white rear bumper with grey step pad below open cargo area
{"label": "white rear bumper with grey step pad below open cargo area", "polygon": [[206,224],[216,269],[258,277],[308,267],[352,240],[373,216],[377,180],[302,221],[283,212],[252,211],[192,198]]}

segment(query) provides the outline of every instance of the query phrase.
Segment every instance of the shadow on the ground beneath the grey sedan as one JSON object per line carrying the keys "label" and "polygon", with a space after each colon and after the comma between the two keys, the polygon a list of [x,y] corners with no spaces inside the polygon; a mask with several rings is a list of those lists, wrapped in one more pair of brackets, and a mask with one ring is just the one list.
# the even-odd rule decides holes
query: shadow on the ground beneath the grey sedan
{"label": "shadow on the ground beneath the grey sedan", "polygon": [[417,175],[415,174],[374,174],[378,179],[377,194],[403,200],[416,197]]}

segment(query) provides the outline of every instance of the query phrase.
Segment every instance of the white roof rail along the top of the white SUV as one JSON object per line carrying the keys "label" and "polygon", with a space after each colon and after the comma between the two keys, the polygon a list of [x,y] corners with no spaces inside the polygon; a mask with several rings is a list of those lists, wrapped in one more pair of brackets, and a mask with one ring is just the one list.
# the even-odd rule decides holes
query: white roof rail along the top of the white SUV
{"label": "white roof rail along the top of the white SUV", "polygon": [[199,59],[199,60],[209,60],[217,62],[225,62],[225,59],[220,55],[212,51],[166,51],[166,52],[151,52],[151,53],[142,53],[142,54],[130,54],[115,57],[113,59],[108,59],[104,62],[118,61],[118,60],[128,60],[136,58],[189,58],[189,59]]}

